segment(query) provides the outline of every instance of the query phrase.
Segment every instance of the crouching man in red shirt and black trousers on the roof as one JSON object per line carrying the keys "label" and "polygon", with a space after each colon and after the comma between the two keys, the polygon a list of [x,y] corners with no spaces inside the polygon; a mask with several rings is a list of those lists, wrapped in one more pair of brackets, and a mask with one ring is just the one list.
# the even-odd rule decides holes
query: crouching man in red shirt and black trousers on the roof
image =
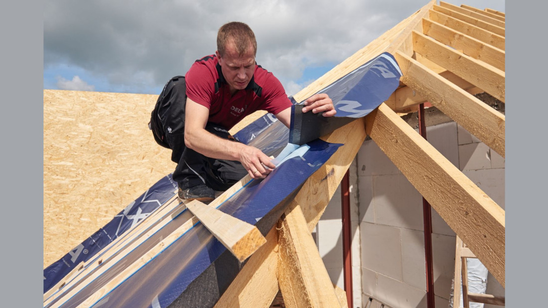
{"label": "crouching man in red shirt and black trousers on the roof", "polygon": [[[158,97],[149,123],[158,144],[172,150],[179,198],[210,202],[249,174],[265,178],[276,166],[259,149],[228,133],[256,110],[266,110],[289,127],[291,105],[282,84],[256,65],[257,43],[248,25],[229,22],[217,36],[217,50],[172,78]],[[336,111],[327,94],[307,99],[302,110]]]}

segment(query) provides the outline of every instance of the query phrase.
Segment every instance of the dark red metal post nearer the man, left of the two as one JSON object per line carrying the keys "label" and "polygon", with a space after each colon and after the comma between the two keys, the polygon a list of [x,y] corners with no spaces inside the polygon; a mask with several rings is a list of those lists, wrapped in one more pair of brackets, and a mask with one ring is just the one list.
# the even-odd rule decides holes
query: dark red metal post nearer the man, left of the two
{"label": "dark red metal post nearer the man, left of the two", "polygon": [[352,223],[350,220],[350,173],[346,173],[341,181],[341,207],[343,208],[343,258],[344,258],[344,290],[348,306],[352,304]]}

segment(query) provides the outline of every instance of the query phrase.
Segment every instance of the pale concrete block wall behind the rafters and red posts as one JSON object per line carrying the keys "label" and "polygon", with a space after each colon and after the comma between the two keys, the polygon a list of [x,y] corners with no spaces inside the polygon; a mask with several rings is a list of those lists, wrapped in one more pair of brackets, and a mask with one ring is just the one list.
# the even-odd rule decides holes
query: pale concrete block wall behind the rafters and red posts
{"label": "pale concrete block wall behind the rafters and red posts", "polygon": [[[427,128],[429,142],[504,208],[504,158],[454,122]],[[362,305],[368,295],[394,307],[425,307],[422,198],[376,146],[357,155]],[[434,289],[437,307],[449,304],[455,233],[432,210]],[[504,289],[489,277],[489,290]],[[499,294],[497,294],[499,295]]]}

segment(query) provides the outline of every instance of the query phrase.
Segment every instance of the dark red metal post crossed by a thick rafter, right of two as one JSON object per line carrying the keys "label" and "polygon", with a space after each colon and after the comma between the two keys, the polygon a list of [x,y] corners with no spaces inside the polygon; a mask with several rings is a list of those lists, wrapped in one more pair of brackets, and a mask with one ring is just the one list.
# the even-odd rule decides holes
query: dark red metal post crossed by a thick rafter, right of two
{"label": "dark red metal post crossed by a thick rafter, right of two", "polygon": [[[424,104],[419,105],[419,133],[426,140]],[[432,215],[430,203],[423,197],[424,254],[426,263],[426,303],[434,308],[434,270],[432,262]]]}

